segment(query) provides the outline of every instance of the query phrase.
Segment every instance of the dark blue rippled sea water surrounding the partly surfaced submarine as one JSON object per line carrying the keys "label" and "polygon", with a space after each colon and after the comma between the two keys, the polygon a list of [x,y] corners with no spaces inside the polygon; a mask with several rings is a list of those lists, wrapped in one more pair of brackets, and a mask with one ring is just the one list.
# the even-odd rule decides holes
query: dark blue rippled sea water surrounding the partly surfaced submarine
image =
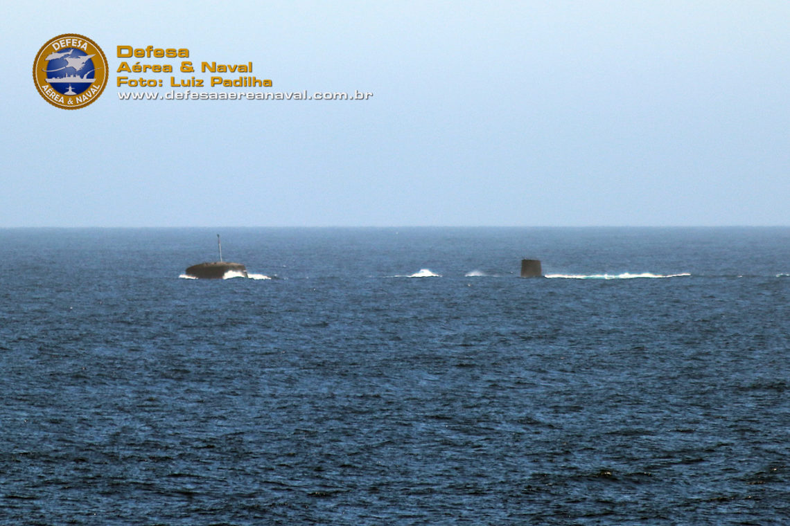
{"label": "dark blue rippled sea water surrounding the partly surfaced submarine", "polygon": [[216,233],[0,230],[0,524],[788,524],[790,229]]}

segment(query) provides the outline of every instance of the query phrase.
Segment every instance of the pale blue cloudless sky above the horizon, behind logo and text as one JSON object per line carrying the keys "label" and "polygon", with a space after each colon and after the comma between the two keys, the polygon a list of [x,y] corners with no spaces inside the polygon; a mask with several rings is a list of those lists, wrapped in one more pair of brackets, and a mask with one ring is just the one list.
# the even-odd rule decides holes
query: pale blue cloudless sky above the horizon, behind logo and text
{"label": "pale blue cloudless sky above the horizon, behind logo and text", "polygon": [[[790,225],[790,2],[23,2],[3,26],[0,227]],[[32,82],[64,33],[110,67],[79,110]],[[149,45],[273,81],[196,91],[374,95],[120,100],[174,89],[117,87],[117,47]]]}

